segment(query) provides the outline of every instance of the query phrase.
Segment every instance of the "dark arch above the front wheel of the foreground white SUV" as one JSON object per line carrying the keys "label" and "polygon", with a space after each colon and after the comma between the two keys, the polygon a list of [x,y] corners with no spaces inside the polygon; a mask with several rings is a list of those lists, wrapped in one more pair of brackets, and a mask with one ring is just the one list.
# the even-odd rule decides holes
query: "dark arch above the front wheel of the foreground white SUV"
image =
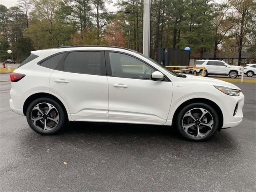
{"label": "dark arch above the front wheel of the foreground white SUV", "polygon": [[220,127],[218,130],[220,130],[223,126],[223,122],[224,122],[224,116],[223,116],[223,113],[222,113],[222,110],[220,109],[220,107],[218,106],[218,104],[216,104],[215,102],[213,102],[212,100],[209,100],[209,99],[206,99],[206,98],[192,98],[192,99],[189,99],[189,100],[186,100],[184,101],[182,104],[180,104],[178,106],[178,108],[176,108],[175,112],[174,112],[174,115],[172,117],[172,125],[174,125],[175,123],[175,120],[178,116],[178,113],[180,112],[180,110],[188,105],[188,104],[191,104],[191,103],[204,103],[204,104],[208,104],[210,105],[212,108],[214,108],[214,110],[216,110],[217,114],[218,114],[218,117],[220,119]]}

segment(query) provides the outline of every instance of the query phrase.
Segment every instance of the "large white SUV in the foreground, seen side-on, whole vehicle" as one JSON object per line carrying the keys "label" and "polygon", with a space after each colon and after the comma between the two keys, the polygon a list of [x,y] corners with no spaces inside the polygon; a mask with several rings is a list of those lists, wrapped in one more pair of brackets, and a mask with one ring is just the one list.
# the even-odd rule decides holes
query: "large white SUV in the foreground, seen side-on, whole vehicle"
{"label": "large white SUV in the foreground, seen side-on, whole vehicle", "polygon": [[243,117],[244,95],[234,84],[179,75],[125,48],[32,51],[10,78],[10,107],[44,135],[69,120],[173,125],[195,141]]}

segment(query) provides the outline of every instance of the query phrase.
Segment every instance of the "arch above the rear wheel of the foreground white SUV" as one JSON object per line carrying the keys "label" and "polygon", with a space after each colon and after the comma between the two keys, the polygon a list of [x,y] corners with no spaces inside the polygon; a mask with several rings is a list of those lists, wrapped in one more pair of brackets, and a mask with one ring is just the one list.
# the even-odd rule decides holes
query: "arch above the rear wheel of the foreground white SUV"
{"label": "arch above the rear wheel of the foreground white SUV", "polygon": [[26,116],[26,110],[28,109],[29,104],[33,100],[42,98],[42,97],[52,98],[53,100],[58,102],[60,104],[60,106],[62,106],[65,115],[68,117],[68,119],[70,119],[70,116],[68,115],[70,112],[69,112],[68,106],[64,102],[64,100],[62,98],[60,98],[60,97],[58,98],[57,96],[54,96],[53,94],[48,93],[48,92],[37,92],[37,93],[30,94],[30,96],[28,96],[26,98],[26,100],[23,102],[23,107],[22,107],[23,114]]}

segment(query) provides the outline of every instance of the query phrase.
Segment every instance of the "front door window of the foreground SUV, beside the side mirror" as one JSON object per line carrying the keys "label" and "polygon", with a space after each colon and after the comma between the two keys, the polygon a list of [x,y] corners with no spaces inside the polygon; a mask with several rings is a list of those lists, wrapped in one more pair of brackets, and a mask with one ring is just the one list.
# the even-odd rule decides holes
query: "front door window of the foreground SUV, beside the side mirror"
{"label": "front door window of the foreground SUV, beside the side mirror", "polygon": [[109,59],[114,77],[150,79],[155,71],[144,62],[126,54],[109,52]]}

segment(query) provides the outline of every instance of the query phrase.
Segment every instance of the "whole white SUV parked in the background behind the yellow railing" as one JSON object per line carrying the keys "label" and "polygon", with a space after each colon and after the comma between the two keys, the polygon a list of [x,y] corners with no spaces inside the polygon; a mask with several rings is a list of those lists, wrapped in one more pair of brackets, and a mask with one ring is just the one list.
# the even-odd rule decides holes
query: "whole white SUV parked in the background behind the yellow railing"
{"label": "whole white SUV parked in the background behind the yellow railing", "polygon": [[[240,66],[229,65],[224,61],[219,60],[198,60],[195,63],[196,67],[205,67],[204,76],[208,75],[229,75],[230,78],[236,78],[243,73],[243,68]],[[196,72],[202,73],[202,69],[197,69]]]}

